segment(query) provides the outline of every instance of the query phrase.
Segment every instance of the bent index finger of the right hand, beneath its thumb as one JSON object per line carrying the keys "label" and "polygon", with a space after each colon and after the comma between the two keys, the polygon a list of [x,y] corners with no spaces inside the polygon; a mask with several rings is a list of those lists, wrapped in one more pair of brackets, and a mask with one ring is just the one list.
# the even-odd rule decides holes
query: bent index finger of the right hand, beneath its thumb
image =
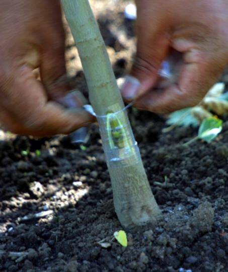
{"label": "bent index finger of the right hand, beneath its thumb", "polygon": [[213,58],[198,50],[184,55],[179,81],[164,90],[151,90],[135,106],[157,113],[172,112],[197,105],[216,82],[222,68]]}

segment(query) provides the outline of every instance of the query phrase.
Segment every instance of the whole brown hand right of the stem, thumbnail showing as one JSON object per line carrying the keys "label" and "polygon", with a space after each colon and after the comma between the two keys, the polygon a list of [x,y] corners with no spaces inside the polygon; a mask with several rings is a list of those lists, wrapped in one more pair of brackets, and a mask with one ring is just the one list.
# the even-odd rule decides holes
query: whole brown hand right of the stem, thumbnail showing
{"label": "whole brown hand right of the stem, thumbnail showing", "polygon": [[[136,0],[137,52],[126,101],[157,113],[195,106],[228,64],[227,0]],[[182,54],[177,82],[155,88],[162,62]]]}

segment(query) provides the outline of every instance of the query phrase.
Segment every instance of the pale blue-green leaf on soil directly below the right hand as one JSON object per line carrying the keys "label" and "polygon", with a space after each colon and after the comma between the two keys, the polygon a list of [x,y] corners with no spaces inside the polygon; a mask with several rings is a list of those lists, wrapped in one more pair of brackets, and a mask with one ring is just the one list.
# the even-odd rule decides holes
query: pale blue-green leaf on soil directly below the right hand
{"label": "pale blue-green leaf on soil directly below the right hand", "polygon": [[191,114],[192,108],[185,108],[181,110],[177,110],[170,114],[169,119],[167,120],[167,124],[177,124],[179,126],[198,126],[198,120],[192,116]]}

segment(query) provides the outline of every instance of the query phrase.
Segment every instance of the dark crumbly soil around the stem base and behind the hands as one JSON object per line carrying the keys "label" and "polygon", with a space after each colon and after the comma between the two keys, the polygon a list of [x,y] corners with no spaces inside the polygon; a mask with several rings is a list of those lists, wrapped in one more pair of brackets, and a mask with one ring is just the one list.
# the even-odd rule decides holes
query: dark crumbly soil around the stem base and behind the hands
{"label": "dark crumbly soil around the stem base and behind the hands", "polygon": [[[135,48],[127,3],[92,2],[117,78],[128,72]],[[72,87],[86,94],[69,35],[66,56]],[[34,139],[1,131],[0,271],[228,271],[228,121],[212,143],[184,147],[196,128],[163,133],[164,116],[132,109],[129,115],[162,210],[157,226],[126,230],[126,248],[113,240],[122,227],[97,125],[83,146],[70,135]],[[40,212],[46,215],[32,217]]]}

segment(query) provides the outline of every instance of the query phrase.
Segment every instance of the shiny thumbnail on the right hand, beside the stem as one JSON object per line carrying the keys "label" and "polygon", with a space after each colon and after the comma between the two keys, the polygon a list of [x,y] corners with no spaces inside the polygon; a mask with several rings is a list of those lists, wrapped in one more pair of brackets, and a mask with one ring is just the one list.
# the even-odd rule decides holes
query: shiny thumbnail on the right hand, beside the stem
{"label": "shiny thumbnail on the right hand, beside the stem", "polygon": [[127,100],[137,97],[140,89],[140,82],[131,76],[125,78],[125,82],[121,88],[122,96]]}

